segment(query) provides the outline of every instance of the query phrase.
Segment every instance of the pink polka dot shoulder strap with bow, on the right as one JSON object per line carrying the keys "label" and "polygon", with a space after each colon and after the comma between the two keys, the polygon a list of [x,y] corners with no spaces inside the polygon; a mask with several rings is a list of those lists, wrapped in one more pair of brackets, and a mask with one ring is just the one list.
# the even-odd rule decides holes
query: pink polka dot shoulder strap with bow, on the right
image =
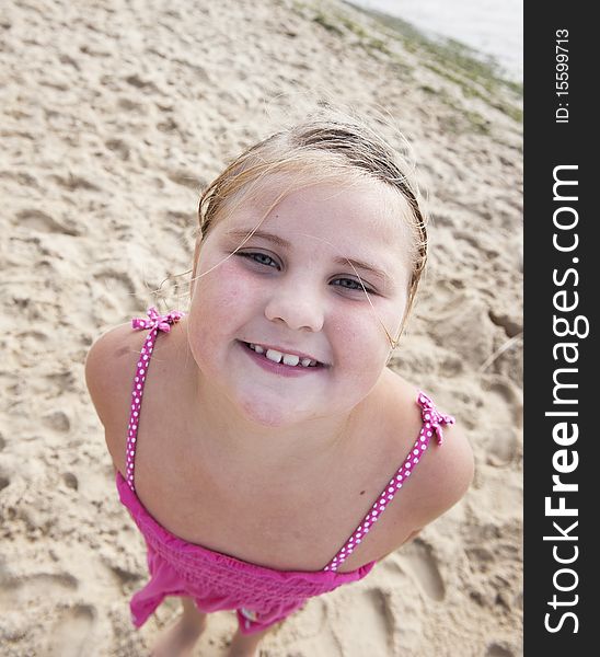
{"label": "pink polka dot shoulder strap with bow, on the right", "polygon": [[415,440],[411,451],[406,454],[404,463],[396,470],[394,476],[390,480],[367,516],[362,519],[362,522],[346,541],[342,550],[339,550],[325,566],[324,570],[337,570],[346,558],[348,558],[365,535],[372,529],[372,526],[380,518],[381,514],[383,514],[390,502],[392,502],[394,495],[402,488],[404,482],[411,476],[411,473],[420,461],[420,457],[425,453],[431,436],[435,434],[438,445],[441,445],[443,437],[441,425],[454,424],[453,417],[450,415],[442,415],[436,411],[434,402],[424,392],[418,393],[416,403],[420,406],[420,416],[423,419],[423,426],[418,438]]}

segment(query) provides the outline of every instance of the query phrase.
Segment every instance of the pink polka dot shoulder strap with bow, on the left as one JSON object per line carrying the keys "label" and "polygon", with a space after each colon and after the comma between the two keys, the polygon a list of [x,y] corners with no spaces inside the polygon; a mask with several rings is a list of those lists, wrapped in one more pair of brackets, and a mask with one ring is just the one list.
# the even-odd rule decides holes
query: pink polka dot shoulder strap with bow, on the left
{"label": "pink polka dot shoulder strap with bow, on the left", "polygon": [[143,387],[146,384],[146,373],[148,372],[148,366],[150,365],[150,356],[154,348],[154,342],[159,331],[169,333],[171,326],[178,322],[183,318],[183,312],[176,310],[171,311],[165,315],[159,314],[155,308],[149,308],[147,311],[148,320],[146,319],[134,319],[131,320],[131,326],[139,331],[150,328],[150,333],[143,342],[141,347],[140,359],[134,377],[134,389],[131,392],[131,412],[129,415],[129,426],[127,427],[127,454],[126,454],[126,474],[127,484],[129,488],[135,493],[136,487],[134,484],[134,470],[136,464],[136,442],[138,439],[138,424],[139,414],[141,407],[141,396],[143,394]]}

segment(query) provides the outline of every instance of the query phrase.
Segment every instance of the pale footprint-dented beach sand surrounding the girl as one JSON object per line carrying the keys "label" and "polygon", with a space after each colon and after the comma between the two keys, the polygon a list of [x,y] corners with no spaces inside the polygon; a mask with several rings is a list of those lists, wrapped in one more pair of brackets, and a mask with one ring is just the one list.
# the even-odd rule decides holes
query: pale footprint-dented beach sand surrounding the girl
{"label": "pale footprint-dented beach sand surrounding the girl", "polygon": [[[457,56],[458,57],[458,56]],[[460,57],[458,57],[460,58]],[[185,306],[198,193],[319,100],[411,141],[431,257],[393,367],[455,415],[466,496],[362,581],[312,599],[268,657],[522,654],[522,124],[508,87],[337,1],[28,0],[0,15],[0,653],[148,655],[141,535],[83,361]],[[475,73],[473,73],[475,76]],[[195,655],[220,657],[232,612]]]}

